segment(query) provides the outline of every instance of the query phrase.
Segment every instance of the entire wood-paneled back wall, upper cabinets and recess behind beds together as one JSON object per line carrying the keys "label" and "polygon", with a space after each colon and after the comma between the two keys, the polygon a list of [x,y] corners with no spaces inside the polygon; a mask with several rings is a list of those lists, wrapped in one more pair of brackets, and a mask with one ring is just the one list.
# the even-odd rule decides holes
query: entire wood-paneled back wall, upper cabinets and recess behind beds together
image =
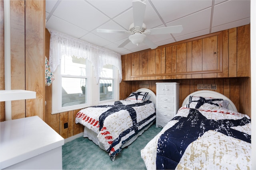
{"label": "entire wood-paneled back wall, upper cabinets and recess behind beds together", "polygon": [[140,83],[156,92],[156,82],[179,82],[181,106],[197,84],[214,83],[250,116],[250,25],[122,55],[122,74],[120,99]]}

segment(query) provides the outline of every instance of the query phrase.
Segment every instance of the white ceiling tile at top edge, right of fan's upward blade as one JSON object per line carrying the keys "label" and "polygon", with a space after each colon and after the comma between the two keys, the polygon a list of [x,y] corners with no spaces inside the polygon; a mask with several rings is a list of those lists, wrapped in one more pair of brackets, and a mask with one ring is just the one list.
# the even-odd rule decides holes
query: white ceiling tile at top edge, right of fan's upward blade
{"label": "white ceiling tile at top edge, right of fan's upward blade", "polygon": [[188,16],[200,10],[210,8],[211,0],[153,0],[152,4],[165,23]]}

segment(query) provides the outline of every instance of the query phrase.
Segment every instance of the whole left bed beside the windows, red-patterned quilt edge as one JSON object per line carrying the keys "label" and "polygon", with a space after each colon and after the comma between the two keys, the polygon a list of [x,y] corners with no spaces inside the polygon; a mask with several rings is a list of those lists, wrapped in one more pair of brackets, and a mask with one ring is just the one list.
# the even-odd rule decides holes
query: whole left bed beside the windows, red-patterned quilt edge
{"label": "whole left bed beside the windows, red-patterned quilt edge", "polygon": [[84,137],[111,158],[127,147],[156,120],[156,94],[147,88],[132,92],[125,100],[81,109],[75,118],[84,125]]}

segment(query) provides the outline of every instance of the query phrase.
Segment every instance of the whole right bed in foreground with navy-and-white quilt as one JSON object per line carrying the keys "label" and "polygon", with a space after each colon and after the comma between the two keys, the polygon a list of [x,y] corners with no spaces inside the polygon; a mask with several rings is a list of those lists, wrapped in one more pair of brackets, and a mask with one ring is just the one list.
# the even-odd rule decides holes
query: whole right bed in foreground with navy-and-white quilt
{"label": "whole right bed in foreground with navy-and-white quilt", "polygon": [[147,169],[250,169],[251,120],[226,96],[201,90],[141,150]]}

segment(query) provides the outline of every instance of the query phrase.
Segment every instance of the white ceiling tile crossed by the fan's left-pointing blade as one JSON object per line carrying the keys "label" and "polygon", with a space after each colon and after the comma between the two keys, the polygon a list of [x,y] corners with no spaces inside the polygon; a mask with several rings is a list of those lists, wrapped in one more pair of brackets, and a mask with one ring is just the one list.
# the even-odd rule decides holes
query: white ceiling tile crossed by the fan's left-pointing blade
{"label": "white ceiling tile crossed by the fan's left-pointing blade", "polygon": [[[110,20],[104,25],[98,27],[100,29],[114,29],[114,30],[123,30],[126,31],[123,27],[115,23],[114,21]],[[96,30],[92,31],[92,33],[104,38],[108,39],[108,41],[114,43],[116,41],[120,41],[120,39],[128,38],[129,33],[98,33]]]}

